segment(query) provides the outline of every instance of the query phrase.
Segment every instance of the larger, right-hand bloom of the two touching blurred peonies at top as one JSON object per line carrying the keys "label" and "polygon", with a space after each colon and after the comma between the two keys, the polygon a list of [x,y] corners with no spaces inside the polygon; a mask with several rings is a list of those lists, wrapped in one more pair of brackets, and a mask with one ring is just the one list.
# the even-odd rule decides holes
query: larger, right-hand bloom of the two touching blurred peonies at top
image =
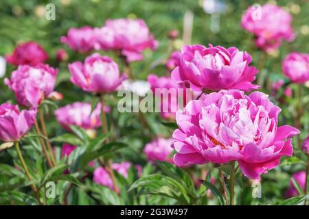
{"label": "larger, right-hand bloom of the two touching blurred peonies at top", "polygon": [[[142,51],[145,49],[153,50],[157,47],[157,41],[149,33],[146,23],[141,19],[107,20],[104,27],[108,28],[107,31],[111,30],[113,33],[113,49],[121,50],[128,62],[142,60]],[[111,36],[111,34],[108,34],[108,36]],[[107,41],[105,47],[111,47],[111,40]]]}

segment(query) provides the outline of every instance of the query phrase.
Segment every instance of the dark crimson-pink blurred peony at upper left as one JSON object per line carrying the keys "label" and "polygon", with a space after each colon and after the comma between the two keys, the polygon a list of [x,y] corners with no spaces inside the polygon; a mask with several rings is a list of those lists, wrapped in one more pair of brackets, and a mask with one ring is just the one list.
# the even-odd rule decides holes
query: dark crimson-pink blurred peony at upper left
{"label": "dark crimson-pink blurred peony at upper left", "polygon": [[27,64],[35,66],[48,59],[46,51],[36,42],[25,42],[19,44],[12,55],[5,55],[6,61],[14,66]]}

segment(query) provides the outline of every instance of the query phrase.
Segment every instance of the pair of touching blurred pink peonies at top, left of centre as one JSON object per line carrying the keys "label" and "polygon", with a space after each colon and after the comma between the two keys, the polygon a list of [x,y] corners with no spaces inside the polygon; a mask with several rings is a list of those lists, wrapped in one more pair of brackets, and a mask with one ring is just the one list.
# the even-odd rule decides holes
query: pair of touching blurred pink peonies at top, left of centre
{"label": "pair of touching blurred pink peonies at top, left of centre", "polygon": [[107,20],[100,28],[71,28],[60,41],[84,53],[93,49],[121,51],[127,62],[142,60],[142,51],[157,47],[157,41],[143,20],[125,18]]}

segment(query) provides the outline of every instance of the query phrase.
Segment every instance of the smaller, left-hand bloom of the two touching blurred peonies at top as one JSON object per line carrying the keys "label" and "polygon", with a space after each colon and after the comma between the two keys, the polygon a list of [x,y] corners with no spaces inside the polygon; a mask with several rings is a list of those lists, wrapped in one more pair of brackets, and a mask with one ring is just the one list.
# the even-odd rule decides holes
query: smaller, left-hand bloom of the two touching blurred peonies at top
{"label": "smaller, left-hand bloom of the two touching blurred peonies at top", "polygon": [[95,35],[93,28],[89,26],[71,28],[67,32],[67,36],[61,36],[60,41],[67,44],[74,51],[87,53],[94,49]]}

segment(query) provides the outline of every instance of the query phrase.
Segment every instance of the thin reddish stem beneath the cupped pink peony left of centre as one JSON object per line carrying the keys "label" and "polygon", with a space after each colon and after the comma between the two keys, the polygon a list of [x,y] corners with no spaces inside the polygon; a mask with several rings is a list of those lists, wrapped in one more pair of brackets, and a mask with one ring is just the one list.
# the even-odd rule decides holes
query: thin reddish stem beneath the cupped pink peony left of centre
{"label": "thin reddish stem beneath the cupped pink peony left of centre", "polygon": [[[104,106],[105,106],[105,103],[104,103],[104,99],[103,99],[103,95],[101,94],[100,95],[100,102],[101,102],[101,116],[102,116],[102,129],[103,129],[103,133],[108,133],[108,127],[107,127],[107,122],[106,122],[106,114],[104,112]],[[109,143],[109,138],[106,137],[106,143]],[[103,160],[100,160],[99,159],[99,162],[100,164],[104,165],[104,161]],[[114,190],[115,192],[117,191],[117,187],[116,187],[116,180],[115,180],[115,175],[114,175],[114,172],[113,172],[113,168],[111,167],[112,165],[112,162],[111,162],[111,159],[108,160],[107,164],[106,164],[106,169],[109,173],[109,175],[111,175],[111,179],[113,181],[113,185],[114,185]]]}

